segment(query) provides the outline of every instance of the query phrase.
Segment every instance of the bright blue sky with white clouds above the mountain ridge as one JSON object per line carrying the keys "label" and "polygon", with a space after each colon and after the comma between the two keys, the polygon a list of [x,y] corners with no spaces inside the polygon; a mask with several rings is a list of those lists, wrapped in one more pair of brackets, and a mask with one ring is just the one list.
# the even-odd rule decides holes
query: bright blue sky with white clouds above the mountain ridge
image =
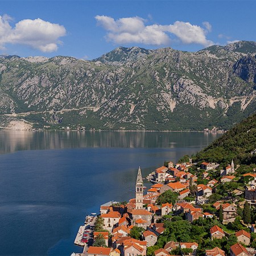
{"label": "bright blue sky with white clouds above the mountain ridge", "polygon": [[94,59],[118,46],[255,41],[256,1],[0,1],[0,54]]}

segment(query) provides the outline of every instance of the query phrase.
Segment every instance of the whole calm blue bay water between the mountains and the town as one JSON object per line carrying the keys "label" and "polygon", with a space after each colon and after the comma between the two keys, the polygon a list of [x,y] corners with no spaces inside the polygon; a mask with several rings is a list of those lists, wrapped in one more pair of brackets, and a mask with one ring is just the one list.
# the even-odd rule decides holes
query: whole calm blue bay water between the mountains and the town
{"label": "whole calm blue bay water between the mountains and the town", "polygon": [[0,255],[81,252],[73,241],[85,216],[108,201],[133,198],[139,166],[146,177],[218,136],[0,131]]}

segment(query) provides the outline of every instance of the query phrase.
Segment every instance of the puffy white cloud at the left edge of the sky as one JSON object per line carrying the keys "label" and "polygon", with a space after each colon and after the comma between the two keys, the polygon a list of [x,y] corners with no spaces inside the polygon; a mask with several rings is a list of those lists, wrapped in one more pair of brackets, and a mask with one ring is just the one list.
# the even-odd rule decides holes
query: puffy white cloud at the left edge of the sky
{"label": "puffy white cloud at the left edge of the sky", "polygon": [[59,24],[46,22],[42,19],[23,19],[11,27],[10,16],[0,16],[0,47],[5,44],[23,44],[42,52],[53,52],[61,44],[59,38],[66,30]]}

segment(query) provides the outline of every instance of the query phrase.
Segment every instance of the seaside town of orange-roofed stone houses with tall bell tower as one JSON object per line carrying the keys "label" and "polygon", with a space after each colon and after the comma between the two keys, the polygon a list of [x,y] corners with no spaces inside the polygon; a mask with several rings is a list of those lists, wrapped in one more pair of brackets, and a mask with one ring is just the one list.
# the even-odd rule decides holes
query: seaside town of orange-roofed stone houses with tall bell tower
{"label": "seaside town of orange-roofed stone houses with tall bell tower", "polygon": [[83,253],[72,256],[255,255],[256,172],[239,167],[165,162],[147,190],[139,168],[135,198],[86,217],[75,240]]}

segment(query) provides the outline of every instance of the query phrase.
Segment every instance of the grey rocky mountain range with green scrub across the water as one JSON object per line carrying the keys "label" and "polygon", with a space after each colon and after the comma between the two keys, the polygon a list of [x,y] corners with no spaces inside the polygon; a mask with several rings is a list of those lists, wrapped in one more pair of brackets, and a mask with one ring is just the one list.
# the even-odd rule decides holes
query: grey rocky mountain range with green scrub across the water
{"label": "grey rocky mountain range with green scrub across the water", "polygon": [[0,126],[229,129],[256,110],[256,43],[118,47],[93,61],[0,57]]}

